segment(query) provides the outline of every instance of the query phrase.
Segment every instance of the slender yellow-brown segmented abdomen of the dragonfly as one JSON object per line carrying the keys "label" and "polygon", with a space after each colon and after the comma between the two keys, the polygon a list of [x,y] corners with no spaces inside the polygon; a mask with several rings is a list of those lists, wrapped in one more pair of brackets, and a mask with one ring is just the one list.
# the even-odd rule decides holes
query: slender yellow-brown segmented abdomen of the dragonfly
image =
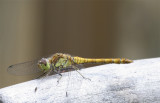
{"label": "slender yellow-brown segmented abdomen of the dragonfly", "polygon": [[73,57],[74,62],[76,64],[83,64],[83,63],[131,63],[133,62],[132,60],[126,59],[126,58],[108,58],[108,59],[90,59],[90,58],[82,58],[82,57]]}

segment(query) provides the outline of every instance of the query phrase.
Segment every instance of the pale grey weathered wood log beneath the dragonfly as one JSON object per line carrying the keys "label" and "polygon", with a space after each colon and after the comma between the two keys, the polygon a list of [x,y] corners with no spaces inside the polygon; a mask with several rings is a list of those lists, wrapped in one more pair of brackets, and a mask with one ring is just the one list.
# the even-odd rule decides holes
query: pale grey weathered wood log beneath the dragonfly
{"label": "pale grey weathered wood log beneath the dragonfly", "polygon": [[[106,64],[0,89],[2,103],[160,103],[160,58]],[[67,94],[67,95],[66,95]]]}

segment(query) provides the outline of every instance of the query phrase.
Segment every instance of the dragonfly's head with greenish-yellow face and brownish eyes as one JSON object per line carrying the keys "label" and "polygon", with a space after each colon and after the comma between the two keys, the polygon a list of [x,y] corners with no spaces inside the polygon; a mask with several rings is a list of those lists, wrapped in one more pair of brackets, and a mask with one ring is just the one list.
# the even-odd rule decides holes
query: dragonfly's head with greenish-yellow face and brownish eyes
{"label": "dragonfly's head with greenish-yellow face and brownish eyes", "polygon": [[50,69],[50,63],[49,63],[48,59],[42,58],[40,61],[38,61],[38,67],[42,71],[48,71]]}

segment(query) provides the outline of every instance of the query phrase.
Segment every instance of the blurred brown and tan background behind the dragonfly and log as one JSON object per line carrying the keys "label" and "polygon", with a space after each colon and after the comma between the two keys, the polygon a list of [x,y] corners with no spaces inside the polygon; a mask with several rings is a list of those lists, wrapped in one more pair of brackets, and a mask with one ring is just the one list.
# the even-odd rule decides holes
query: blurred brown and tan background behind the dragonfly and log
{"label": "blurred brown and tan background behind the dragonfly and log", "polygon": [[0,0],[0,88],[30,80],[11,64],[56,52],[160,56],[159,0]]}

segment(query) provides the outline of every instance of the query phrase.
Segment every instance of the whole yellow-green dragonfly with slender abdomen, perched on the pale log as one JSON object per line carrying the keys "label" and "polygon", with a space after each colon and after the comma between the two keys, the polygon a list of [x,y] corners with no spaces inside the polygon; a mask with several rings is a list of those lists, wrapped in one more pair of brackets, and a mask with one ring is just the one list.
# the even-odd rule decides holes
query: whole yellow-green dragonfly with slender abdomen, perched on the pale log
{"label": "whole yellow-green dragonfly with slender abdomen, perched on the pale log", "polygon": [[[88,63],[101,63],[101,64],[127,64],[133,61],[126,58],[82,58],[78,56],[71,56],[65,53],[55,53],[50,57],[42,58],[24,63],[14,64],[8,67],[8,72],[16,75],[33,74],[43,72],[41,76],[48,76],[59,74],[61,79],[63,72],[77,71],[83,78],[85,78],[78,70],[78,65]],[[87,79],[87,78],[85,78]]]}

